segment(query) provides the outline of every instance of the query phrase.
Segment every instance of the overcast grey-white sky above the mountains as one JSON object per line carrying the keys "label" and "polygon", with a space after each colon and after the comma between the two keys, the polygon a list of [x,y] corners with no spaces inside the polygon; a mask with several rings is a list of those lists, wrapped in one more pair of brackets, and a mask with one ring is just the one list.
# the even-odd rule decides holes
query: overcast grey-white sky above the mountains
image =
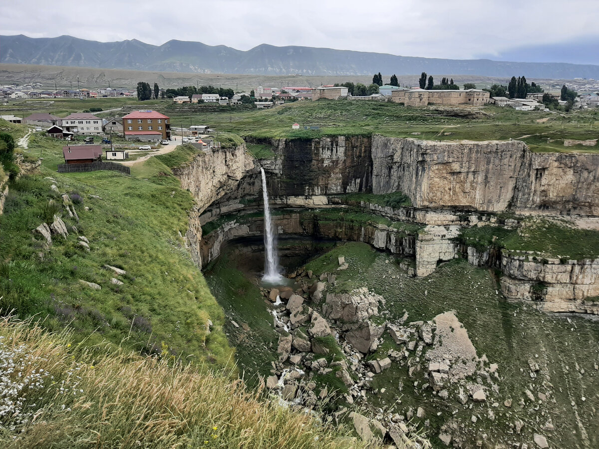
{"label": "overcast grey-white sky above the mountains", "polygon": [[[598,0],[6,0],[0,5],[2,35],[66,34],[155,45],[177,39],[239,50],[266,43],[577,63],[599,63],[597,47],[585,51],[574,45],[599,44],[598,23]],[[524,46],[534,54],[522,54]]]}

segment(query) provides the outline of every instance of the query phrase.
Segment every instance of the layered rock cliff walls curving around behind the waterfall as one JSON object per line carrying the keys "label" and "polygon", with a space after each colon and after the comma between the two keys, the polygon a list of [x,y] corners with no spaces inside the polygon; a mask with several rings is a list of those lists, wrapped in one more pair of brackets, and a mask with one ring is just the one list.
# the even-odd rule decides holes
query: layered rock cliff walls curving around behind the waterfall
{"label": "layered rock cliff walls curving around behind the waterfall", "polygon": [[[463,257],[499,269],[506,298],[540,310],[599,314],[599,254],[550,257],[492,242],[474,247],[460,238],[485,226],[522,233],[526,220],[540,219],[596,229],[599,154],[533,153],[517,140],[382,135],[248,144],[270,145],[274,159],[255,160],[239,145],[205,151],[173,170],[196,200],[186,237],[200,267],[226,242],[264,232],[262,167],[279,234],[366,242],[406,257],[416,277]],[[407,197],[402,204],[380,201],[398,193]]]}

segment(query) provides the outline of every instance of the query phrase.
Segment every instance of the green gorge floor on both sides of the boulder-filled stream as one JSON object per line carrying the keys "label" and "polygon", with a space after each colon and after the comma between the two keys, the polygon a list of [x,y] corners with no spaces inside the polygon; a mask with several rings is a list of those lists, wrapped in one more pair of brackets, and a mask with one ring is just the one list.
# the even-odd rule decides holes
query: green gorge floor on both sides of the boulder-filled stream
{"label": "green gorge floor on both sides of the boulder-filled stream", "polygon": [[[345,271],[336,271],[340,255],[349,264]],[[407,277],[398,262],[405,261],[349,242],[335,245],[305,267],[316,276],[336,272],[337,282],[328,284],[325,295],[359,287],[382,295],[385,305],[379,307],[381,321],[397,322],[406,312],[406,323],[432,320],[435,315],[455,311],[477,356],[498,363],[498,379],[493,380],[498,389],[489,389],[485,402],[464,405],[456,399],[458,384],[448,388],[447,399],[441,399],[428,387],[426,369],[414,370],[410,377],[407,365],[394,362],[391,368],[374,375],[366,397],[358,401],[360,407],[370,409],[373,415],[398,413],[404,417],[422,408],[422,418],[415,416],[413,421],[438,447],[443,444],[438,439],[440,432],[461,441],[462,447],[476,447],[477,441],[483,441],[483,447],[514,442],[533,447],[534,433],[546,436],[552,447],[591,448],[599,444],[595,424],[599,405],[596,323],[508,302],[498,293],[494,271],[473,267],[464,260],[441,264],[425,278]],[[205,276],[225,313],[239,326],[226,320],[225,330],[231,344],[237,346],[240,368],[248,378],[270,375],[278,334],[261,290],[232,265],[226,254]],[[318,305],[310,303],[310,307]],[[383,359],[395,349],[397,345],[385,332],[376,353],[368,354],[367,360]],[[509,407],[504,404],[508,399],[512,400]],[[337,405],[344,405],[343,396],[338,395],[332,407]]]}

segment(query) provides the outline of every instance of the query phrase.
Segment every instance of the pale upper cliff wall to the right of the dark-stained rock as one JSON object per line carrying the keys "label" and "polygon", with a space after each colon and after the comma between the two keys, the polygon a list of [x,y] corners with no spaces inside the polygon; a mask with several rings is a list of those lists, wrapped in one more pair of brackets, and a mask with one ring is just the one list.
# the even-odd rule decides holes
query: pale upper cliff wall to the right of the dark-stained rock
{"label": "pale upper cliff wall to the right of the dark-stained rock", "polygon": [[599,214],[599,154],[532,153],[521,141],[427,142],[375,135],[373,193],[416,208]]}

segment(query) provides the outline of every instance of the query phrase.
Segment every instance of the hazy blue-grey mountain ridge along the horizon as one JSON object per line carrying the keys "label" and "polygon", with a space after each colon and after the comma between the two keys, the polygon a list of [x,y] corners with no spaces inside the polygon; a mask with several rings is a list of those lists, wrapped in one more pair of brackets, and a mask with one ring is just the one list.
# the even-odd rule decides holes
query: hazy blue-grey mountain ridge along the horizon
{"label": "hazy blue-grey mountain ridge along the horizon", "polygon": [[262,44],[241,51],[225,45],[177,40],[150,45],[135,39],[102,43],[71,36],[0,36],[0,63],[255,75],[368,75],[374,72],[414,75],[425,71],[448,75],[599,79],[599,65],[431,59],[295,45]]}

